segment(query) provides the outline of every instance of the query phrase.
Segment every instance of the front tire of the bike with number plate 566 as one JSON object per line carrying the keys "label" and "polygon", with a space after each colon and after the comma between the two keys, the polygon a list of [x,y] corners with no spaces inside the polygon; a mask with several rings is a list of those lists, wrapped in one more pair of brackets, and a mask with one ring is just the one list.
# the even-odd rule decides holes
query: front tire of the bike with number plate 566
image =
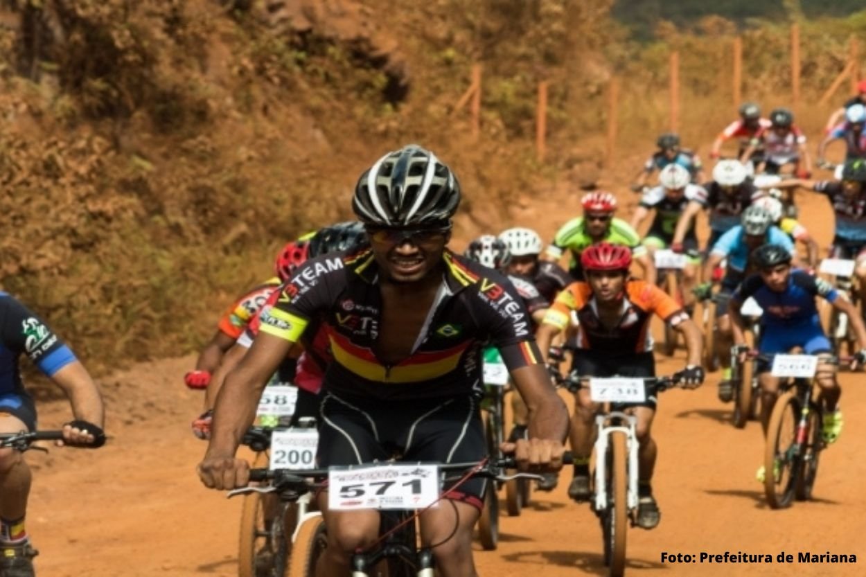
{"label": "front tire of the bike with number plate 566", "polygon": [[[799,472],[799,456],[794,454],[797,442],[799,401],[794,390],[784,392],[772,408],[770,424],[766,430],[764,450],[764,494],[771,509],[785,509],[791,505]],[[791,430],[788,431],[787,427]],[[779,459],[779,478],[774,470]]]}

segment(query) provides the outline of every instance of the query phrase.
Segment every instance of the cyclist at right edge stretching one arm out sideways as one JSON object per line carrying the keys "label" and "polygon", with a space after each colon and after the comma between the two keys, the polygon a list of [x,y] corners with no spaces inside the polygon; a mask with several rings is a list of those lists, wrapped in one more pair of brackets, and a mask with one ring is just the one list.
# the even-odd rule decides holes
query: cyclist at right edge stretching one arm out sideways
{"label": "cyclist at right edge stretching one arm out sideways", "polygon": [[836,229],[830,256],[855,261],[861,302],[866,302],[866,160],[849,160],[843,165],[842,180],[785,180],[779,188],[801,186],[830,199]]}

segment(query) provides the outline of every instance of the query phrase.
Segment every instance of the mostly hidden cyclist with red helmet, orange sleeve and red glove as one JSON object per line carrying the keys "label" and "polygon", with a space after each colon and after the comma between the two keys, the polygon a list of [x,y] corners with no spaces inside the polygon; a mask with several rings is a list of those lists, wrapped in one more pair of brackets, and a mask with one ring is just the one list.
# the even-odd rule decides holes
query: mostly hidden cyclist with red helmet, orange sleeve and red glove
{"label": "mostly hidden cyclist with red helmet, orange sleeve and red glove", "polygon": [[311,235],[312,233],[287,243],[277,255],[274,267],[276,276],[272,276],[262,284],[250,289],[223,314],[216,323],[216,333],[199,353],[195,370],[184,375],[186,386],[191,389],[206,389],[210,385],[214,371],[223,361],[223,355],[243,334],[243,329],[247,327],[255,313],[262,308],[264,302],[268,300],[268,296],[292,274],[294,269],[307,260],[308,239]]}

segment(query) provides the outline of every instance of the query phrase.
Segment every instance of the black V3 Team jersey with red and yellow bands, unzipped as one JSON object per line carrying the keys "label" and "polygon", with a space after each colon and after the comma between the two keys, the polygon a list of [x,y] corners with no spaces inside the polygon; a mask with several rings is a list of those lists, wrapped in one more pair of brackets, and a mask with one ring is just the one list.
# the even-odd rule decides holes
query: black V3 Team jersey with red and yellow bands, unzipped
{"label": "black V3 Team jersey with red and yellow bands, unzipped", "polygon": [[326,390],[379,399],[418,399],[481,389],[481,346],[500,349],[509,369],[540,362],[531,319],[514,285],[493,269],[450,251],[443,283],[409,357],[387,366],[375,353],[382,314],[372,252],[320,256],[295,271],[263,333],[296,342],[320,321],[333,353]]}

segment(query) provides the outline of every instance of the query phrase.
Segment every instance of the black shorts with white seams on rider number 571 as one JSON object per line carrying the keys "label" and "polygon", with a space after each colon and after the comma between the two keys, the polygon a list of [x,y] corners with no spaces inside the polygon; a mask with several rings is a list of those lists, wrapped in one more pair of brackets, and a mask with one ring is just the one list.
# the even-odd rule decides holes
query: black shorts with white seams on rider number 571
{"label": "black shorts with white seams on rider number 571", "polygon": [[[469,463],[488,454],[479,402],[471,396],[381,400],[325,392],[320,405],[320,467],[385,461]],[[446,483],[449,489],[454,483]],[[449,498],[483,505],[485,479],[462,483]]]}

